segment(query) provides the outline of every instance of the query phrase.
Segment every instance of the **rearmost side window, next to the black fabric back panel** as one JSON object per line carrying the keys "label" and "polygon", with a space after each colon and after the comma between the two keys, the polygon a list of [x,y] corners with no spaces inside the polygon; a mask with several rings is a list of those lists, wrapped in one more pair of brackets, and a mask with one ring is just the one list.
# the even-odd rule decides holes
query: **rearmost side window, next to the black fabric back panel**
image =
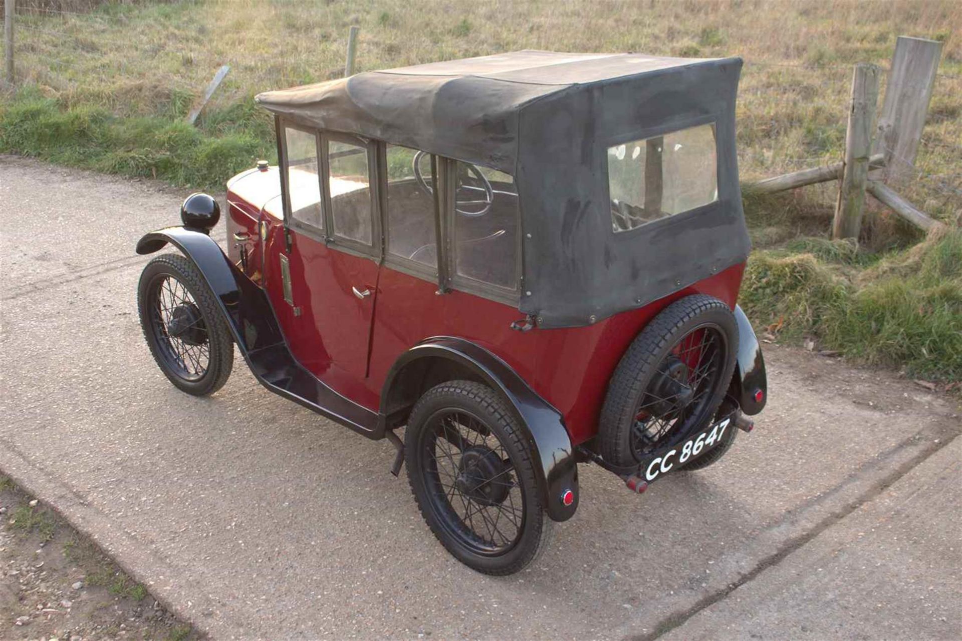
{"label": "rearmost side window, next to the black fabric back panel", "polygon": [[503,172],[456,163],[454,272],[505,289],[518,288],[518,189]]}

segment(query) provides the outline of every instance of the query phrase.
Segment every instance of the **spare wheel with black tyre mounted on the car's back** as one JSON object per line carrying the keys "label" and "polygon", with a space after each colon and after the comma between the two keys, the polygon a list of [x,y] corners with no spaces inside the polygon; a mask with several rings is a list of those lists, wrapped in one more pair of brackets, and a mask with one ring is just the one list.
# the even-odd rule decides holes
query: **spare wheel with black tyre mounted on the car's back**
{"label": "spare wheel with black tyre mounted on the car's back", "polygon": [[598,429],[601,456],[634,465],[707,427],[737,352],[735,316],[717,298],[688,296],[663,309],[632,341],[608,384]]}

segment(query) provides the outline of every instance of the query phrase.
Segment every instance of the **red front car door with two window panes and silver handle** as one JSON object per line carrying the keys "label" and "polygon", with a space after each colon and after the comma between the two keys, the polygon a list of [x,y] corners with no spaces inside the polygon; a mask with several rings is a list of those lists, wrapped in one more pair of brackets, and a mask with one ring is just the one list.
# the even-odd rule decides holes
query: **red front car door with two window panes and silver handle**
{"label": "red front car door with two window panes and silver handle", "polygon": [[373,145],[290,125],[283,144],[290,243],[278,259],[290,285],[279,321],[302,365],[376,410],[379,390],[367,379],[380,262]]}

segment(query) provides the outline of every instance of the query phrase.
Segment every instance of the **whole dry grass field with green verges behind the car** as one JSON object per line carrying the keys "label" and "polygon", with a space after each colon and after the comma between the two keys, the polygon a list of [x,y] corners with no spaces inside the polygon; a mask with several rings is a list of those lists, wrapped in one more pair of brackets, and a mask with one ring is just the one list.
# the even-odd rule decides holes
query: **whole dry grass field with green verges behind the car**
{"label": "whole dry grass field with green verges behind the car", "polygon": [[[747,182],[841,160],[852,65],[887,68],[899,35],[942,40],[915,179],[901,191],[952,231],[919,244],[873,205],[857,247],[831,243],[834,183],[774,198],[747,192],[758,251],[743,304],[779,338],[962,379],[957,1],[19,0],[16,20],[19,88],[0,93],[0,151],[213,188],[276,156],[254,94],[340,77],[350,25],[361,28],[362,71],[523,48],[741,56]],[[186,125],[225,63],[227,80],[198,126]]]}

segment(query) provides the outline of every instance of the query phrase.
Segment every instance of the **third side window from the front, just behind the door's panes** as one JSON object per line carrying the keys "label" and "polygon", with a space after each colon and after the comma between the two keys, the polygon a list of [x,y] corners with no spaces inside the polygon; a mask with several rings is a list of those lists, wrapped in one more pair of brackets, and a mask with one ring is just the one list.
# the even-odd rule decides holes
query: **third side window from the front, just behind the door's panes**
{"label": "third side window from the front, just behind the door's panes", "polygon": [[431,155],[387,146],[388,254],[438,267]]}

